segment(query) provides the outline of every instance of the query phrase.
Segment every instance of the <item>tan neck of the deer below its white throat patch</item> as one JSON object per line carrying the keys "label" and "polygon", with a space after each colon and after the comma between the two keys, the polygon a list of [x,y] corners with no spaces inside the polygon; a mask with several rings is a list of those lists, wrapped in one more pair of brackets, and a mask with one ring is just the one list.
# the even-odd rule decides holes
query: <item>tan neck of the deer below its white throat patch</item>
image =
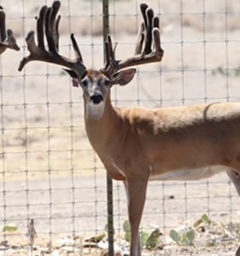
{"label": "tan neck of the deer below its white throat patch", "polygon": [[89,109],[87,109],[86,100],[84,101],[84,119],[88,139],[97,153],[105,152],[111,138],[116,135],[115,130],[120,127],[117,109],[112,106],[109,95],[103,103],[104,106],[100,106],[103,108],[100,110],[101,116],[93,118],[88,115]]}

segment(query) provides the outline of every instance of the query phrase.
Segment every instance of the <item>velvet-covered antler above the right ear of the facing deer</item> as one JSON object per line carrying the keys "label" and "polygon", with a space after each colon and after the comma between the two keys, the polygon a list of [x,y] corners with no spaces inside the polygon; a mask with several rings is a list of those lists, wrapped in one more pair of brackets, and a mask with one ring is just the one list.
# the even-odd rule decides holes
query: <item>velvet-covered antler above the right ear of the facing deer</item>
{"label": "velvet-covered antler above the right ear of the facing deer", "polygon": [[[115,48],[112,47],[110,35],[105,42],[105,66],[102,71],[112,77],[115,72],[125,67],[141,65],[150,62],[160,62],[163,58],[163,49],[160,47],[159,18],[154,16],[154,10],[146,3],[141,3],[143,21],[136,40],[135,55],[125,60],[116,60]],[[143,47],[144,46],[144,47]]]}

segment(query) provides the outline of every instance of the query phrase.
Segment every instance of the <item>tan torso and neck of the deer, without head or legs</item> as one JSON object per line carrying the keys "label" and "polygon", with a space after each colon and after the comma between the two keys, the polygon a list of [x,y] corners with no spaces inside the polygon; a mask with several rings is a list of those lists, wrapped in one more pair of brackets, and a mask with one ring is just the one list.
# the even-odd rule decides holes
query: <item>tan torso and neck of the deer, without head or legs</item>
{"label": "tan torso and neck of the deer, without head or legs", "polygon": [[240,103],[114,108],[108,99],[104,115],[85,115],[85,125],[93,148],[118,180],[138,175],[128,170],[136,163],[152,180],[195,180],[229,167],[240,170]]}

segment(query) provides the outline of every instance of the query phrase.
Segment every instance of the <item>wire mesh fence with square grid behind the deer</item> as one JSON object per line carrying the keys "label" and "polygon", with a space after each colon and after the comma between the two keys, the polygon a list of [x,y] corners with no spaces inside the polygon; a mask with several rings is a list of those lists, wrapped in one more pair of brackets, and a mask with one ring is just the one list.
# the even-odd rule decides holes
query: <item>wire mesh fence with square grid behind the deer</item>
{"label": "wire mesh fence with square grid behind the deer", "polygon": [[[100,255],[97,248],[85,248],[89,246],[85,239],[106,233],[106,171],[86,137],[82,92],[71,86],[59,67],[33,62],[23,72],[17,71],[19,61],[27,55],[24,38],[35,29],[34,17],[41,5],[51,3],[0,1],[7,27],[14,30],[21,46],[19,52],[6,51],[0,62],[0,255],[32,253],[28,247],[31,219],[38,234],[34,244],[40,245],[43,255],[53,255],[56,248],[59,255],[67,255],[68,250],[72,255]],[[163,62],[137,67],[131,84],[112,90],[113,104],[163,107],[239,101],[239,1],[148,3],[160,16]],[[139,1],[112,0],[109,12],[110,33],[119,42],[117,56],[132,55],[141,19]],[[60,13],[60,52],[73,56],[69,38],[73,32],[86,66],[102,67],[101,1],[62,1]],[[114,181],[113,194],[116,244],[128,247],[123,231],[127,202],[121,183]],[[239,198],[226,174],[193,182],[152,182],[142,230],[151,233],[158,227],[163,233],[161,241],[168,244],[171,229],[185,222],[193,226],[206,213],[221,231],[198,235],[200,241],[195,244],[206,247],[202,255],[207,250],[220,255],[237,248],[239,208]],[[231,238],[228,247],[219,238],[224,235]],[[215,241],[213,247],[206,246],[209,239]],[[168,255],[167,250],[147,253]],[[171,250],[172,255],[186,255],[193,248]]]}

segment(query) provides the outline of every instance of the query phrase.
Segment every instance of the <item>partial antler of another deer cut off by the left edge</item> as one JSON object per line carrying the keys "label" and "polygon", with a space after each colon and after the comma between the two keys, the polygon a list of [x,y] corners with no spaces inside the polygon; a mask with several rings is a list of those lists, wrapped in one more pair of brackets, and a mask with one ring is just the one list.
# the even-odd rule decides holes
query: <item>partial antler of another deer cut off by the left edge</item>
{"label": "partial antler of another deer cut off by the left edge", "polygon": [[16,44],[16,38],[14,37],[12,30],[8,29],[6,33],[5,12],[0,6],[0,54],[2,54],[7,48],[14,49],[16,51],[20,50],[19,46]]}

